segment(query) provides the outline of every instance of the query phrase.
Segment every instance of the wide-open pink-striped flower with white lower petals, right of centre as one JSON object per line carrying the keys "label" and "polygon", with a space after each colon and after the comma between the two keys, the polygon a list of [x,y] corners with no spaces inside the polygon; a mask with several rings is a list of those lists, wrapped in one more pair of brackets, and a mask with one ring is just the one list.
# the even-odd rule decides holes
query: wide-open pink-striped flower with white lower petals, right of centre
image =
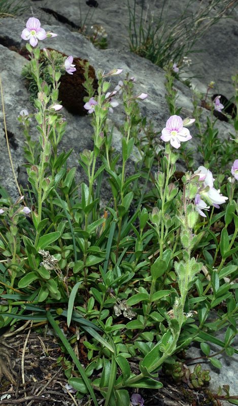
{"label": "wide-open pink-striped flower with white lower petals, right of centre", "polygon": [[160,138],[164,142],[170,141],[171,145],[178,149],[181,142],[191,140],[192,136],[189,130],[183,127],[182,118],[174,115],[166,121],[166,127],[162,129]]}

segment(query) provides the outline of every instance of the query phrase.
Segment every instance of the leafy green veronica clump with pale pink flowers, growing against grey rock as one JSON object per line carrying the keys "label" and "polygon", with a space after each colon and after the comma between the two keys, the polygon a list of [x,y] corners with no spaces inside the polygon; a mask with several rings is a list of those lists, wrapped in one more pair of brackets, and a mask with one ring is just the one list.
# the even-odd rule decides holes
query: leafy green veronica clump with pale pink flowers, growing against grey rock
{"label": "leafy green veronica clump with pale pink flowers, growing against grey rock", "polygon": [[[175,179],[176,161],[182,145],[193,142],[194,127],[191,133],[188,127],[194,119],[183,120],[173,110],[156,132],[165,143],[163,152],[151,151],[155,132],[139,108],[148,95],[137,94],[128,75],[110,89],[111,78],[122,70],[100,71],[97,94],[90,94],[84,105],[92,119],[93,148],[80,153],[85,181],[79,186],[76,167],[67,169],[71,150],[58,153],[66,129],[57,99],[60,70],[44,49],[51,83],[41,78],[38,41],[47,33],[36,20],[30,19],[22,35],[32,43],[27,48],[38,86],[34,106],[40,142],[31,143],[32,117],[21,112],[29,144],[29,185],[25,208],[22,198],[15,205],[6,194],[0,200],[0,285],[5,300],[0,323],[13,324],[17,318],[48,321],[78,371],[77,377],[70,377],[72,363],[60,358],[76,396],[85,395],[95,405],[101,397],[106,406],[142,405],[141,395],[130,398],[131,388],[161,388],[164,362],[175,364],[176,353],[192,340],[201,343],[217,367],[209,341],[230,356],[236,351],[237,159],[232,158],[227,185],[224,175],[213,176],[208,165],[200,165],[182,176],[181,188]],[[61,69],[74,75],[72,57],[62,61]],[[169,83],[167,101],[174,109]],[[117,153],[108,117],[120,95],[125,114]],[[143,135],[141,142],[139,132],[150,138],[145,141]],[[132,154],[138,159],[134,172]],[[105,184],[110,187],[108,199]],[[218,309],[211,322],[209,314],[222,302],[226,309]],[[62,318],[67,326],[77,327],[70,338],[58,325]],[[221,341],[214,332],[224,326]],[[87,365],[82,366],[72,345],[85,336]],[[197,367],[195,384],[200,372]],[[207,371],[203,376],[208,380]]]}

